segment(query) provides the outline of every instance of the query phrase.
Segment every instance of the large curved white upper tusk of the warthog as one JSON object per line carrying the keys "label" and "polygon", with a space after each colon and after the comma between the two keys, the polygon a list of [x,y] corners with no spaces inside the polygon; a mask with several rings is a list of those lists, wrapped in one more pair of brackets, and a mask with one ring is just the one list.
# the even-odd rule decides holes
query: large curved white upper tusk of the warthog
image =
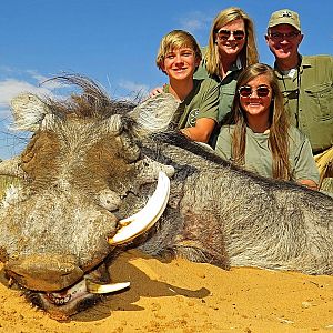
{"label": "large curved white upper tusk of the warthog", "polygon": [[130,242],[138,235],[149,230],[163,214],[170,194],[170,180],[168,175],[160,171],[155,192],[148,200],[145,206],[130,218],[119,221],[123,225],[117,234],[109,239],[111,245],[119,245]]}

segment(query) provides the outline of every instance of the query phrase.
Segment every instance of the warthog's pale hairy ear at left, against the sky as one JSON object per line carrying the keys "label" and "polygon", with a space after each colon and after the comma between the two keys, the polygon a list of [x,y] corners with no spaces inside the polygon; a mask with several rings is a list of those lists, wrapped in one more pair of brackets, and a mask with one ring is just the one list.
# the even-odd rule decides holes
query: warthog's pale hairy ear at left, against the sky
{"label": "warthog's pale hairy ear at left, against the sky", "polygon": [[47,114],[51,111],[37,95],[31,93],[20,94],[11,100],[13,129],[19,131],[37,131]]}

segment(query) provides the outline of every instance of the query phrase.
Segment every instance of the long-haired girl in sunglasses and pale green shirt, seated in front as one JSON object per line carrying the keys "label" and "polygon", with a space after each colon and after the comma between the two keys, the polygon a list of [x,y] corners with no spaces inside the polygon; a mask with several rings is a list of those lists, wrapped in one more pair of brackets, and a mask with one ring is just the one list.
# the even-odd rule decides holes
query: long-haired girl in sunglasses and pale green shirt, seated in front
{"label": "long-haired girl in sunglasses and pale green shirt, seated in front", "polygon": [[283,95],[271,67],[256,63],[240,74],[232,105],[235,124],[223,125],[215,151],[263,176],[317,189],[309,139],[290,125]]}

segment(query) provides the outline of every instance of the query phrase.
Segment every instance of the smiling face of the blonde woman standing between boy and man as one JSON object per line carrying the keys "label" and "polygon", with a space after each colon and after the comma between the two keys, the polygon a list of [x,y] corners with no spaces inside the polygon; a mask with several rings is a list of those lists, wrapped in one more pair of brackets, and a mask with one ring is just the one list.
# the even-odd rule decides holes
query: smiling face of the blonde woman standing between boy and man
{"label": "smiling face of the blonde woman standing between boy and man", "polygon": [[[234,61],[239,53],[242,51],[245,42],[245,23],[242,19],[234,20],[221,28],[219,28],[219,32],[215,33],[215,42],[219,47],[219,53],[221,58],[229,58]],[[228,32],[230,33],[221,33]],[[231,31],[233,33],[231,33]],[[241,32],[243,32],[243,38],[239,39]]]}

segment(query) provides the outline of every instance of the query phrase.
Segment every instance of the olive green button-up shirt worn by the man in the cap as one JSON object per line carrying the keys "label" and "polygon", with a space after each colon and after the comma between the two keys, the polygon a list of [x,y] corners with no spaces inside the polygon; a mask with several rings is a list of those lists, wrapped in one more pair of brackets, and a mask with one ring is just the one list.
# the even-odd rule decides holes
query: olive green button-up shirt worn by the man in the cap
{"label": "olive green button-up shirt worn by the man in the cap", "polygon": [[275,63],[275,73],[292,124],[309,138],[313,152],[332,147],[333,57],[303,56],[291,77],[279,71]]}

